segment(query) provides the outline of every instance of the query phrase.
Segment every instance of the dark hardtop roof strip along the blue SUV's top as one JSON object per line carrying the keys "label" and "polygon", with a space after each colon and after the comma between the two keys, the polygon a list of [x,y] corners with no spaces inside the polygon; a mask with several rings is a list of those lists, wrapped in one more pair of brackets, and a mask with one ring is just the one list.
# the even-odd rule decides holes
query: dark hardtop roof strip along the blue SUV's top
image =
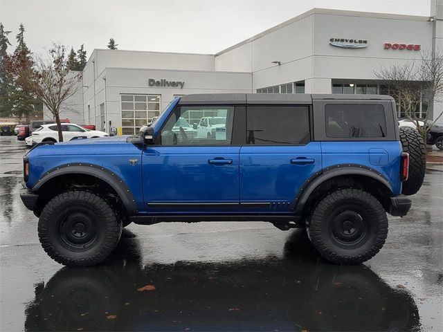
{"label": "dark hardtop roof strip along the blue SUV's top", "polygon": [[313,100],[394,100],[394,98],[390,95],[199,93],[183,95],[179,104],[312,104]]}

